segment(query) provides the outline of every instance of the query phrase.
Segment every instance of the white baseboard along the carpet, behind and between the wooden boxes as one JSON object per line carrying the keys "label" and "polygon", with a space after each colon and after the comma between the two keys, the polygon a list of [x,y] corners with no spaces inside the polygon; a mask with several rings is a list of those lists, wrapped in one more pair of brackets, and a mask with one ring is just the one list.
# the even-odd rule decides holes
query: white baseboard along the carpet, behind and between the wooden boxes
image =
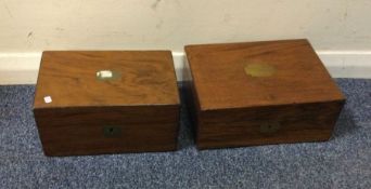
{"label": "white baseboard along the carpet, behind and between the wooden boxes", "polygon": [[[318,51],[333,78],[371,78],[371,51]],[[184,53],[174,52],[178,81]],[[35,84],[41,53],[0,53],[0,84]]]}

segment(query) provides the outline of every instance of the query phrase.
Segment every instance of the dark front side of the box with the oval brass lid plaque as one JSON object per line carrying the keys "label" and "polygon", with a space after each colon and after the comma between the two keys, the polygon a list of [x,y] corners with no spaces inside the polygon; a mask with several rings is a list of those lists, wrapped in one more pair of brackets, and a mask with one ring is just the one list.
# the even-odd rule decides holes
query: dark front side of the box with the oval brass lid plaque
{"label": "dark front side of the box with the oval brass lid plaque", "polygon": [[197,147],[328,140],[344,100],[202,112]]}

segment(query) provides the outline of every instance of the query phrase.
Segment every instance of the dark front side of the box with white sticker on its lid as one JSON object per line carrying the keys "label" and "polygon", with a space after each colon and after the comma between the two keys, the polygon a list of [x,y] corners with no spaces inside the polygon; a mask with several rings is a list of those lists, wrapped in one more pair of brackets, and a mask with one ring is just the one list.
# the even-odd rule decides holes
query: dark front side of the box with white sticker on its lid
{"label": "dark front side of the box with white sticker on its lid", "polygon": [[34,112],[47,156],[177,148],[179,106],[35,109]]}

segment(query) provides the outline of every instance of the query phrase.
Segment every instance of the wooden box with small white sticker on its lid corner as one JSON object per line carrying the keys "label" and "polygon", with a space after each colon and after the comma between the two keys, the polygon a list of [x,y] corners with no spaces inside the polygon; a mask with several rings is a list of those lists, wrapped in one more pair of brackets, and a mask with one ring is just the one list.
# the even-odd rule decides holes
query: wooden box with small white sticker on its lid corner
{"label": "wooden box with small white sticker on its lid corner", "polygon": [[169,51],[43,52],[34,114],[47,156],[176,150]]}

